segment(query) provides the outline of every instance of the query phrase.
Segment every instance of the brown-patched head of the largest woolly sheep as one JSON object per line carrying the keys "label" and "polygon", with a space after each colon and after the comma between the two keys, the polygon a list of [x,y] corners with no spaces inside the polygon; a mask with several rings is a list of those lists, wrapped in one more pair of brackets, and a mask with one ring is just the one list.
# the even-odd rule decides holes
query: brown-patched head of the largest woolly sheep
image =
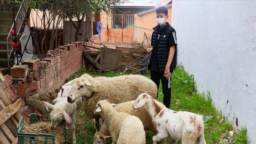
{"label": "brown-patched head of the largest woolly sheep", "polygon": [[68,96],[69,103],[75,102],[75,100],[80,98],[81,96],[89,98],[93,93],[93,91],[91,90],[93,86],[84,77],[77,78],[70,82],[70,84],[66,85],[72,85]]}

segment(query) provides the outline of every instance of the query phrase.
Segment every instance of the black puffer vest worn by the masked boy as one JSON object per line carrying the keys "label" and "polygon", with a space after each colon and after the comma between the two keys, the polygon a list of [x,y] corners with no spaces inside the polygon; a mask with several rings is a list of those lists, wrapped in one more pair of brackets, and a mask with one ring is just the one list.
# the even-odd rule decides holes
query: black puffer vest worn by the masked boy
{"label": "black puffer vest worn by the masked boy", "polygon": [[[168,60],[169,51],[170,51],[170,47],[168,47],[169,38],[170,36],[173,36],[172,32],[175,32],[176,34],[175,29],[171,27],[168,22],[166,23],[167,24],[164,27],[160,27],[159,25],[154,27],[153,28],[154,32],[151,37],[152,38],[151,45],[153,46],[153,49],[158,48],[157,58],[158,58],[158,68],[160,72],[165,71],[165,66]],[[155,43],[158,30],[160,30],[159,45]],[[170,72],[173,72],[173,70],[176,69],[176,63],[177,63],[177,44],[175,44],[175,52],[173,55],[173,59],[171,61]]]}

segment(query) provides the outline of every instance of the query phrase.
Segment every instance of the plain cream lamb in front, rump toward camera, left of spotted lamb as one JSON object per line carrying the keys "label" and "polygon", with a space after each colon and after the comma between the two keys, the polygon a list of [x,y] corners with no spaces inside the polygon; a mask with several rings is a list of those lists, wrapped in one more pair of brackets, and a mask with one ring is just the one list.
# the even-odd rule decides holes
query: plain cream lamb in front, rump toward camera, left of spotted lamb
{"label": "plain cream lamb in front, rump toward camera, left of spotted lamb", "polygon": [[100,114],[109,128],[112,144],[145,144],[145,131],[143,123],[138,117],[128,113],[117,112],[112,101],[101,100],[97,102],[95,112]]}

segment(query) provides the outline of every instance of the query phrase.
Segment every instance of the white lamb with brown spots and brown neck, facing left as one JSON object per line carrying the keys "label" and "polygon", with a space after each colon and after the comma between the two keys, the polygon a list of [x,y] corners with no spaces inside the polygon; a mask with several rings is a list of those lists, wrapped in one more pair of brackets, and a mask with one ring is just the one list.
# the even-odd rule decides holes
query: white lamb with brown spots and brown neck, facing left
{"label": "white lamb with brown spots and brown neck, facing left", "polygon": [[133,104],[134,109],[146,110],[157,130],[153,144],[164,138],[170,138],[172,144],[206,144],[203,133],[203,116],[192,112],[176,112],[161,108],[149,94],[142,93]]}

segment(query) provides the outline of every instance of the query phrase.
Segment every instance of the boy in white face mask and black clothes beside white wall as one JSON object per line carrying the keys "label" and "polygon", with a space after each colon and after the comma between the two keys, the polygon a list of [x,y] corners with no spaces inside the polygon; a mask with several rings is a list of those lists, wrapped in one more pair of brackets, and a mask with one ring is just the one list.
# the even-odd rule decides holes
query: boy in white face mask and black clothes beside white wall
{"label": "boy in white face mask and black clothes beside white wall", "polygon": [[155,82],[158,89],[161,80],[164,105],[170,108],[171,73],[176,68],[177,39],[175,29],[166,22],[168,17],[168,10],[164,6],[156,9],[158,25],[153,28],[154,32],[151,37],[153,48],[148,48],[147,52],[152,53],[149,62],[151,80]]}

